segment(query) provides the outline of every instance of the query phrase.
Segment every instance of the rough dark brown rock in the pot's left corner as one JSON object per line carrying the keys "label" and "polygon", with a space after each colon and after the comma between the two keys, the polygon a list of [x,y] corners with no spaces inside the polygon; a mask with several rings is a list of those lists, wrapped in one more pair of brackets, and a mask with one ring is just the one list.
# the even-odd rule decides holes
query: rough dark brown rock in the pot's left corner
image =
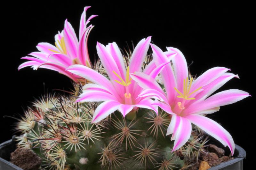
{"label": "rough dark brown rock in the pot's left corner", "polygon": [[42,159],[31,150],[17,148],[11,153],[11,162],[24,170],[37,170],[41,165]]}

